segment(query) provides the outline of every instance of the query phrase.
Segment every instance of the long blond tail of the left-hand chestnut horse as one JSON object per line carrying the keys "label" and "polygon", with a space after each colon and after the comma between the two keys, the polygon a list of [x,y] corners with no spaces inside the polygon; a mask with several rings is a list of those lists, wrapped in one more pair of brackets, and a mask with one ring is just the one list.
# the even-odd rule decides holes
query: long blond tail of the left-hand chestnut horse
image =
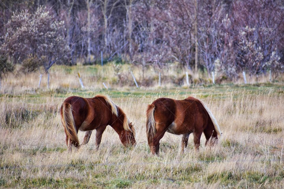
{"label": "long blond tail of the left-hand chestnut horse", "polygon": [[76,131],[75,121],[72,114],[71,104],[64,102],[62,109],[62,123],[66,131],[67,136],[71,139],[76,147],[79,146],[79,139]]}

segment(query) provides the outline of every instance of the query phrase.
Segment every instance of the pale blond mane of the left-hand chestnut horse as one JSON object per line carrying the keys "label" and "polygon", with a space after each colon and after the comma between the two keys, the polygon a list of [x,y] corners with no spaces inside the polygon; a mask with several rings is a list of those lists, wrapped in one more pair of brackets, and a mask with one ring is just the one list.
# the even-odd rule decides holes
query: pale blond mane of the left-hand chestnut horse
{"label": "pale blond mane of the left-hand chestnut horse", "polygon": [[134,127],[130,128],[129,124],[130,121],[127,118],[126,114],[122,111],[122,109],[120,107],[118,107],[109,96],[105,96],[105,95],[96,95],[96,97],[98,98],[103,98],[107,104],[109,104],[112,107],[112,114],[114,114],[117,118],[118,116],[118,111],[123,115],[123,129],[125,131],[132,131],[133,134],[135,135],[135,129]]}

